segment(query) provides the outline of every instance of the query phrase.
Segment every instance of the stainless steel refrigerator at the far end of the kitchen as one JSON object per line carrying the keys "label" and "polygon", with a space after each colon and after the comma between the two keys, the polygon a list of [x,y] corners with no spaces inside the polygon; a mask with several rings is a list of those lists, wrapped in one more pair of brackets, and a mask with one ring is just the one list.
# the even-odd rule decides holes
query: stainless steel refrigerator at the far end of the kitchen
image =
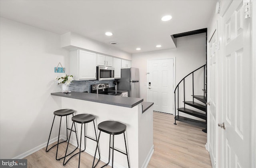
{"label": "stainless steel refrigerator at the far end of the kitchen", "polygon": [[121,69],[118,89],[128,90],[128,97],[140,98],[140,80],[138,68]]}

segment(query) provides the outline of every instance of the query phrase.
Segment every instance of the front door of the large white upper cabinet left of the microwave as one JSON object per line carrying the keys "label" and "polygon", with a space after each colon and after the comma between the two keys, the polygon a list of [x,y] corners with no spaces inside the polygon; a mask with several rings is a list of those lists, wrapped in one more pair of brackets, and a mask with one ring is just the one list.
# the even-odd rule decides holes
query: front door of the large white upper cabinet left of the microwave
{"label": "front door of the large white upper cabinet left of the microwave", "polygon": [[95,66],[96,59],[97,59],[97,54],[79,50],[79,59],[78,59],[79,80],[96,79],[96,66]]}

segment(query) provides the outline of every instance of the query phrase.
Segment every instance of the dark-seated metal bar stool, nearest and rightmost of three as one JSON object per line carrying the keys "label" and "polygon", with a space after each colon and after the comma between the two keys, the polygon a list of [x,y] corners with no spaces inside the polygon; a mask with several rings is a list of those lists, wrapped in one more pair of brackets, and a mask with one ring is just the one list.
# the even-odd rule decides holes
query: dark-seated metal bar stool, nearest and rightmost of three
{"label": "dark-seated metal bar stool, nearest and rightmost of three", "polygon": [[[98,124],[98,129],[100,130],[100,133],[101,132],[105,132],[107,134],[110,134],[110,136],[109,136],[108,163],[105,164],[104,166],[102,166],[101,168],[103,168],[103,167],[105,167],[105,166],[107,166],[109,164],[109,161],[110,161],[110,148],[112,148],[112,168],[113,168],[113,161],[114,161],[114,150],[116,150],[116,151],[126,155],[127,162],[128,162],[128,168],[130,168],[129,159],[128,159],[128,152],[127,152],[127,146],[126,146],[125,134],[124,134],[124,144],[125,144],[126,153],[121,152],[120,150],[117,150],[117,149],[114,148],[114,135],[118,135],[118,134],[124,133],[126,131],[126,125],[122,124],[120,122],[117,122],[117,121],[104,121],[104,122],[101,122],[100,124]],[[111,135],[113,136],[112,147],[110,146],[110,144],[111,144],[110,143]],[[96,150],[98,148],[99,140],[100,140],[100,134],[99,134],[99,138],[98,138],[98,141],[97,141]],[[96,156],[96,151],[95,151],[94,159],[93,159],[93,163],[92,163],[92,167],[93,168],[97,165],[96,164],[94,166],[95,156]]]}

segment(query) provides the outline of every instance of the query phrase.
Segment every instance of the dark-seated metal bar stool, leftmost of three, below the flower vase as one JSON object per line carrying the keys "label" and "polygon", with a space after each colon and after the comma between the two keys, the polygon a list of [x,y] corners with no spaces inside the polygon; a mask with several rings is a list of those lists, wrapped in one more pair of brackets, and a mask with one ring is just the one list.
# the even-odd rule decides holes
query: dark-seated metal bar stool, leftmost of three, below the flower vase
{"label": "dark-seated metal bar stool, leftmost of three, below the flower vase", "polygon": [[[62,117],[63,117],[63,116],[66,116],[66,133],[67,133],[67,139],[66,139],[65,141],[63,141],[63,142],[66,142],[66,141],[68,140],[68,130],[70,130],[70,132],[72,132],[72,131],[73,131],[73,132],[76,132],[76,127],[75,127],[75,131],[72,130],[72,128],[71,128],[71,129],[68,128],[68,118],[67,118],[67,116],[69,116],[70,114],[72,114],[72,116],[74,116],[74,110],[71,110],[71,109],[61,109],[61,110],[57,110],[57,111],[53,112],[53,114],[54,114],[54,118],[53,118],[53,121],[52,121],[52,126],[53,126],[53,124],[54,124],[55,116],[60,116],[60,126],[61,126],[61,119],[62,119]],[[45,151],[48,152],[50,149],[52,149],[54,146],[57,145],[56,160],[60,160],[60,159],[64,158],[64,157],[62,157],[62,158],[57,158],[59,144],[63,143],[63,142],[59,142],[59,140],[60,140],[60,128],[59,128],[59,135],[58,135],[58,143],[55,144],[54,146],[52,146],[50,149],[47,150],[48,144],[49,144],[49,141],[50,141],[51,133],[52,133],[52,128],[51,128],[51,131],[50,131],[50,135],[49,135],[49,138],[48,138],[48,142],[47,142],[47,146],[46,146],[46,150],[45,150]],[[78,139],[77,139],[77,136],[76,136],[76,140],[77,140],[77,147],[76,147],[76,149],[77,149],[77,148],[78,148]],[[75,150],[76,150],[76,149],[75,149]]]}

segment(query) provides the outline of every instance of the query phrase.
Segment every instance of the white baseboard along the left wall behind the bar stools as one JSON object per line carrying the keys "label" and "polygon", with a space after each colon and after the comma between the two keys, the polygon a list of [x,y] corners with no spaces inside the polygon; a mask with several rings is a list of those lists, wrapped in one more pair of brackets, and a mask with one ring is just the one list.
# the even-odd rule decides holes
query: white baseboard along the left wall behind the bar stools
{"label": "white baseboard along the left wall behind the bar stools", "polygon": [[[64,139],[66,139],[66,136],[60,135],[60,139],[63,139],[63,140],[64,140]],[[49,141],[49,144],[52,144],[52,143],[54,143],[54,142],[56,142],[56,141],[58,141],[58,136],[55,137],[55,138],[53,138],[53,139],[51,139],[51,140]],[[41,145],[39,145],[39,146],[36,146],[35,148],[33,148],[33,149],[31,149],[31,150],[28,150],[27,152],[24,152],[23,154],[20,154],[20,155],[14,157],[14,158],[12,158],[12,159],[23,159],[23,158],[29,156],[30,154],[32,154],[32,153],[34,153],[34,152],[36,152],[36,151],[38,151],[38,150],[40,150],[40,149],[42,149],[42,148],[44,148],[44,147],[46,147],[46,146],[47,146],[47,142],[45,142],[45,143],[43,143],[43,144],[41,144]]]}

